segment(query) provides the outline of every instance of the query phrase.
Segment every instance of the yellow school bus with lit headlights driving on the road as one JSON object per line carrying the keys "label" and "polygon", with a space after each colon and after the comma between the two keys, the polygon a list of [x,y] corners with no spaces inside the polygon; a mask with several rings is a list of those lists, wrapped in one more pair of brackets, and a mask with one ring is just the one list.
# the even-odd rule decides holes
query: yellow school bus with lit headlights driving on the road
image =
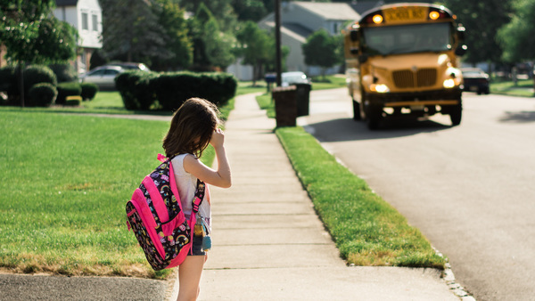
{"label": "yellow school bus with lit headlights driving on the road", "polygon": [[462,116],[465,28],[444,6],[387,4],[365,12],[342,33],[353,118],[370,129],[383,118]]}

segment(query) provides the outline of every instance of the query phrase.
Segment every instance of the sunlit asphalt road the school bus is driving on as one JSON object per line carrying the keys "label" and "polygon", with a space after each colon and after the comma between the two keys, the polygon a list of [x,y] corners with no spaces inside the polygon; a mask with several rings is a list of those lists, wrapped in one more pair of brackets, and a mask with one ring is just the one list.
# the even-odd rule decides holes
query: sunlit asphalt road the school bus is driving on
{"label": "sunlit asphalt road the school bus is driving on", "polygon": [[477,300],[535,300],[535,98],[463,94],[448,116],[351,119],[346,89],[312,91],[298,124],[449,257]]}

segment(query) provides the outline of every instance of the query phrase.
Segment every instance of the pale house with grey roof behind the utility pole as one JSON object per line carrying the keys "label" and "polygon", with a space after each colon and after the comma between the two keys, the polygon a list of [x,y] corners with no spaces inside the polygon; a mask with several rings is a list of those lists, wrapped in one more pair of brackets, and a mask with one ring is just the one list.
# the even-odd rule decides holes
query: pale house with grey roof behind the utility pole
{"label": "pale house with grey roof behind the utility pole", "polygon": [[[360,15],[350,4],[294,1],[284,2],[281,6],[281,44],[290,49],[285,61],[286,69],[303,71],[309,76],[319,75],[321,70],[305,64],[301,45],[306,43],[307,37],[320,28],[325,28],[331,35],[339,34],[346,22],[360,19]],[[274,29],[275,12],[260,20],[259,27]],[[227,71],[234,73],[241,80],[251,80],[240,77],[244,74],[252,75],[249,72],[239,72],[247,68],[235,64]],[[336,72],[336,70],[331,71]]]}

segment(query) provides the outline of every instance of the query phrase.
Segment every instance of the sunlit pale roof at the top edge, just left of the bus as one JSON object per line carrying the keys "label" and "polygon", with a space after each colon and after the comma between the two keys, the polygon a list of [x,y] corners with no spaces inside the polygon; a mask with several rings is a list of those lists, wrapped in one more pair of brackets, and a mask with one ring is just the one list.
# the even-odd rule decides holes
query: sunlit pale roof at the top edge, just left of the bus
{"label": "sunlit pale roof at the top edge, just left of the bus", "polygon": [[360,15],[358,15],[349,4],[304,1],[295,1],[291,4],[299,5],[310,12],[316,13],[317,15],[322,16],[325,20],[360,19]]}

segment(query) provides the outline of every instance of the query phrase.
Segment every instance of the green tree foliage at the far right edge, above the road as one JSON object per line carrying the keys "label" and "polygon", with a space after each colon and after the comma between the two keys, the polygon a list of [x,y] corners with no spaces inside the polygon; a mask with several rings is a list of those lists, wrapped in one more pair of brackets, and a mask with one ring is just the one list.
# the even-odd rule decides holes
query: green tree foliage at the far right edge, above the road
{"label": "green tree foliage at the far right edge, above the road", "polygon": [[504,49],[503,60],[519,62],[535,59],[535,0],[514,2],[513,18],[498,30],[498,42]]}

